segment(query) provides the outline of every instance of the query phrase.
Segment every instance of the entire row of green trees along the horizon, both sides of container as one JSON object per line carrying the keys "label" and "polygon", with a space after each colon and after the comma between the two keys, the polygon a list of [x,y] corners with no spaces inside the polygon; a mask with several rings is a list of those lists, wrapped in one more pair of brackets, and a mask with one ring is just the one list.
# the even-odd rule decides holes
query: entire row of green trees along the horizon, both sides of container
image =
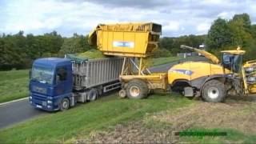
{"label": "entire row of green trees along the horizon, both sides of container", "polygon": [[[93,49],[89,46],[88,35],[73,34],[66,38],[56,31],[42,35],[18,34],[0,35],[0,70],[26,69],[36,58],[63,57],[68,53],[79,53]],[[250,22],[249,14],[235,14],[230,20],[217,18],[208,34],[185,35],[178,38],[160,38],[160,49],[155,57],[176,55],[180,45],[198,47],[206,44],[206,50],[217,54],[220,50],[230,50],[241,46],[246,50],[246,59],[254,59],[256,54],[256,25]]]}

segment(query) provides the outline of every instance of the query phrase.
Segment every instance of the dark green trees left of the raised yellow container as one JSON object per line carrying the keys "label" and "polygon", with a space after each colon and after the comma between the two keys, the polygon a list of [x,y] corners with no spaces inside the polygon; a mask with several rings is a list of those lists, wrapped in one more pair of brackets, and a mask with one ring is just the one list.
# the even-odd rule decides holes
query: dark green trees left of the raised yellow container
{"label": "dark green trees left of the raised yellow container", "polygon": [[62,37],[56,31],[43,35],[2,34],[0,36],[0,70],[30,68],[36,58],[63,57],[67,53],[90,50],[88,36]]}

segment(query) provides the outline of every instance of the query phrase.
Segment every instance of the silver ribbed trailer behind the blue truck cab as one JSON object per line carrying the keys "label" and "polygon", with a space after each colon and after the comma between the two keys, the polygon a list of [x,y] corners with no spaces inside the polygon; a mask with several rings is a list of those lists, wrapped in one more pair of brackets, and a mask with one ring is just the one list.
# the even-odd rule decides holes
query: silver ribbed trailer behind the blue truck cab
{"label": "silver ribbed trailer behind the blue truck cab", "polygon": [[118,89],[123,58],[72,60],[74,98],[94,101],[102,93]]}

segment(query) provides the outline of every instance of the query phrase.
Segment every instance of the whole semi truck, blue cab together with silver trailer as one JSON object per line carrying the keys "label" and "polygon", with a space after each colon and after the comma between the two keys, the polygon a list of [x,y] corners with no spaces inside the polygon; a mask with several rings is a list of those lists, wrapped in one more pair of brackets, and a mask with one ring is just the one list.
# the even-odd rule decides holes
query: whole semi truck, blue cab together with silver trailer
{"label": "whole semi truck, blue cab together with silver trailer", "polygon": [[67,110],[77,102],[96,100],[120,87],[123,58],[38,58],[30,71],[31,106]]}

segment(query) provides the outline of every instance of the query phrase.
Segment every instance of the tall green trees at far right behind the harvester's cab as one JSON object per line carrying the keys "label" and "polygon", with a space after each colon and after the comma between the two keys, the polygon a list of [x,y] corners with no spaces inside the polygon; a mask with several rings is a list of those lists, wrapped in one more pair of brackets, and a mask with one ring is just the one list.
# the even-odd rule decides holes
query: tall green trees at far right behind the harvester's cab
{"label": "tall green trees at far right behind the harvester's cab", "polygon": [[240,46],[246,50],[245,61],[255,59],[256,25],[251,24],[249,14],[235,14],[230,20],[218,18],[210,26],[206,46],[216,55],[221,50],[234,50]]}

